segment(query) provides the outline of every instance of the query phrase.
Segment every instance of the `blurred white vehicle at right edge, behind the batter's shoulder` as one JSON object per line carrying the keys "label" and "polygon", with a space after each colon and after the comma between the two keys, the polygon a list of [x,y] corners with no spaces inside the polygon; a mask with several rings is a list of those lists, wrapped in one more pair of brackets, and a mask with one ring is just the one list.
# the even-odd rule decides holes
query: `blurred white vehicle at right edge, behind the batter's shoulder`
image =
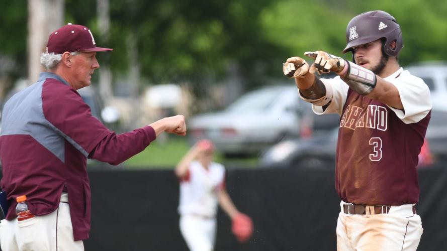
{"label": "blurred white vehicle at right edge, behind the batter's shoulder", "polygon": [[405,67],[428,85],[433,110],[447,111],[447,63],[426,62]]}

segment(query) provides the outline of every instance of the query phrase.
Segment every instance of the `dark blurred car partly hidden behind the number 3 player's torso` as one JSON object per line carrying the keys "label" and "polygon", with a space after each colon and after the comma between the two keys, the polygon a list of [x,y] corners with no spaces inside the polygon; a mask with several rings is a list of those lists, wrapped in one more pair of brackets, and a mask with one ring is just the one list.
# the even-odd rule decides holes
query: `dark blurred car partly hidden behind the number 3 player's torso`
{"label": "dark blurred car partly hidden behind the number 3 player's torso", "polygon": [[[426,142],[423,146],[430,156],[429,160],[422,160],[422,156],[419,155],[419,167],[426,164],[447,163],[446,131],[447,111],[432,110],[425,135]],[[280,142],[260,156],[259,164],[265,168],[333,169],[335,167],[337,137],[338,127],[326,135]],[[433,163],[429,163],[431,161]]]}

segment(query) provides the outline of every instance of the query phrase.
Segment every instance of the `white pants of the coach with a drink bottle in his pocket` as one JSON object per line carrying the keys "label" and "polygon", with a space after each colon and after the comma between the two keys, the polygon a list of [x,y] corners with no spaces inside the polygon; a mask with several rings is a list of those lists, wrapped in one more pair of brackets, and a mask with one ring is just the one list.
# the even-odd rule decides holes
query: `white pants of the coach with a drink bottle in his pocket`
{"label": "white pants of the coach with a drink bottle in his pocket", "polygon": [[18,221],[2,220],[0,245],[3,251],[83,251],[82,240],[74,241],[68,194],[62,193],[52,213]]}

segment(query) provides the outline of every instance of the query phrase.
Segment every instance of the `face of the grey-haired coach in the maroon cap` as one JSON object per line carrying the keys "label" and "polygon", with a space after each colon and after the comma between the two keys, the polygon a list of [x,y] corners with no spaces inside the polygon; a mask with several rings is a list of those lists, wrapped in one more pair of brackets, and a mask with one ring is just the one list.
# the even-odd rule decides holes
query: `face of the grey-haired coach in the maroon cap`
{"label": "face of the grey-haired coach in the maroon cap", "polygon": [[72,57],[73,79],[71,84],[74,89],[89,86],[92,83],[92,75],[95,69],[100,68],[96,59],[96,52],[81,52]]}

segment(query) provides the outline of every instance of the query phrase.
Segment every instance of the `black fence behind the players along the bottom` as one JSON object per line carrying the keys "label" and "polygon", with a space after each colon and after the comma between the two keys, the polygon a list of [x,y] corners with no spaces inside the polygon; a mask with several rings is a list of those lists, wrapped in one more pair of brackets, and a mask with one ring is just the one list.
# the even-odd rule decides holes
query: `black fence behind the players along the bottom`
{"label": "black fence behind the players along the bottom", "polygon": [[[172,171],[92,171],[92,231],[86,250],[185,250]],[[421,169],[417,205],[424,233],[418,250],[447,250],[447,167]],[[238,243],[218,214],[216,251],[335,250],[339,198],[324,170],[227,170],[227,189],[250,215],[254,233]]]}

